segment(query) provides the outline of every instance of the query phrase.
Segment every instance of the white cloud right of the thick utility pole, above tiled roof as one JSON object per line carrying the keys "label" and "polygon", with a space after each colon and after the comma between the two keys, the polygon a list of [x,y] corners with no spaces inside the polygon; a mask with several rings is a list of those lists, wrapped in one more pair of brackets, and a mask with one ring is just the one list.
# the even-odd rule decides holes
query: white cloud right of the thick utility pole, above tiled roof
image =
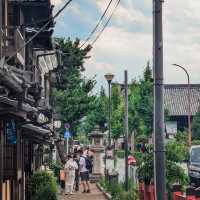
{"label": "white cloud right of the thick utility pole, above tiled roof", "polygon": [[164,64],[168,82],[186,82],[181,69],[172,63],[185,66],[192,82],[200,79],[200,2],[192,0],[166,1],[164,4]]}

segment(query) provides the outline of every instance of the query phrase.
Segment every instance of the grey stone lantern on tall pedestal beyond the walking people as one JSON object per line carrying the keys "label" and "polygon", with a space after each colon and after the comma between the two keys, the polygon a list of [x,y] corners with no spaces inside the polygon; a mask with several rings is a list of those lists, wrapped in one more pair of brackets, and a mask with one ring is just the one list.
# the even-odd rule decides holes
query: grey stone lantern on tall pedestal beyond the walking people
{"label": "grey stone lantern on tall pedestal beyond the walking people", "polygon": [[96,126],[94,130],[89,134],[91,140],[91,150],[94,152],[93,161],[93,176],[100,177],[104,174],[104,138],[105,134]]}

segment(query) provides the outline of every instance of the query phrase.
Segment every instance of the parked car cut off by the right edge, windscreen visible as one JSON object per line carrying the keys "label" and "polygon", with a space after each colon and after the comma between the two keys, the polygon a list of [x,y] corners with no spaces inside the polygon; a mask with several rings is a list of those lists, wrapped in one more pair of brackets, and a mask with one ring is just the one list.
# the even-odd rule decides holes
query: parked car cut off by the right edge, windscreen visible
{"label": "parked car cut off by the right edge, windscreen visible", "polygon": [[191,146],[189,152],[188,174],[190,183],[200,186],[200,145]]}

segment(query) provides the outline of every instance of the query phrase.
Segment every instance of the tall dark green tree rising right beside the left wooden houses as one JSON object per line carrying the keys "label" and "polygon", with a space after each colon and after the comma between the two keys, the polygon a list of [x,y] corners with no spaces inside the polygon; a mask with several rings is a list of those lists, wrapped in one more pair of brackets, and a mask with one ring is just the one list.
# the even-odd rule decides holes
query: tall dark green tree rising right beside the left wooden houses
{"label": "tall dark green tree rising right beside the left wooden houses", "polygon": [[56,41],[63,53],[63,66],[59,68],[60,84],[54,88],[53,97],[62,122],[69,123],[70,131],[76,134],[80,121],[90,111],[94,100],[91,91],[95,80],[82,75],[91,47],[80,49],[79,39],[71,41],[69,38],[59,38]]}

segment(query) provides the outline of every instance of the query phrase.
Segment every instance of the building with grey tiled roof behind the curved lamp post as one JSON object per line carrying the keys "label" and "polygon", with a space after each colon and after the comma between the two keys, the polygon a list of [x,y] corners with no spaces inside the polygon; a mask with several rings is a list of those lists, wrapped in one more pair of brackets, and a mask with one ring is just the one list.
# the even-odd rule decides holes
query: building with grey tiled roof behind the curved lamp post
{"label": "building with grey tiled roof behind the curved lamp post", "polygon": [[[191,84],[191,119],[200,109],[200,84]],[[184,131],[188,127],[188,85],[168,84],[164,91],[165,109],[168,111],[172,127]],[[175,127],[176,126],[176,127]]]}

